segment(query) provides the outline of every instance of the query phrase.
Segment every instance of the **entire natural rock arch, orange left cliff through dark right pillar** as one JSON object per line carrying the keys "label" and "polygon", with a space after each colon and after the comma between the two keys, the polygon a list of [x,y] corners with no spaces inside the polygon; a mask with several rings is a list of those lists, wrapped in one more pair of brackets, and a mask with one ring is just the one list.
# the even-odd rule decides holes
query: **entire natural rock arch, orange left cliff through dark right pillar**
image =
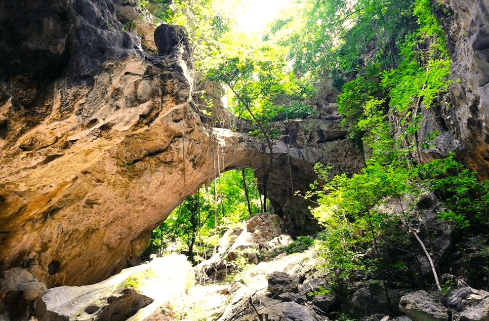
{"label": "entire natural rock arch, orange left cliff through dark right pillar", "polygon": [[[48,287],[101,281],[136,263],[150,232],[218,172],[263,177],[260,140],[205,126],[189,106],[186,41],[165,43],[183,31],[162,28],[149,56],[111,1],[0,2],[1,271],[21,266]],[[338,121],[289,121],[274,141],[267,189],[289,230],[314,230],[293,197],[311,164],[362,166]]]}

